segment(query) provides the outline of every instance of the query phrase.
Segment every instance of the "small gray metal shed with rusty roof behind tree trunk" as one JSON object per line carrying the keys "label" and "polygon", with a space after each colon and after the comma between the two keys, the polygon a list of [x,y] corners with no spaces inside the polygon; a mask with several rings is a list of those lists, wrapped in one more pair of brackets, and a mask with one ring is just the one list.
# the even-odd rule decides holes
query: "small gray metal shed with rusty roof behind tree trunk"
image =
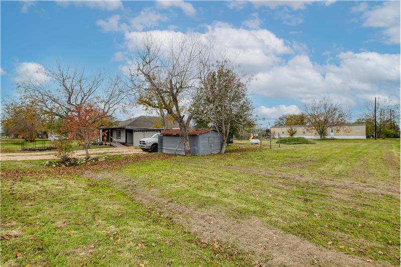
{"label": "small gray metal shed with rusty roof behind tree trunk", "polygon": [[[189,146],[192,155],[208,155],[222,150],[223,138],[210,128],[189,129]],[[179,129],[168,130],[159,135],[157,151],[184,155],[184,142]]]}

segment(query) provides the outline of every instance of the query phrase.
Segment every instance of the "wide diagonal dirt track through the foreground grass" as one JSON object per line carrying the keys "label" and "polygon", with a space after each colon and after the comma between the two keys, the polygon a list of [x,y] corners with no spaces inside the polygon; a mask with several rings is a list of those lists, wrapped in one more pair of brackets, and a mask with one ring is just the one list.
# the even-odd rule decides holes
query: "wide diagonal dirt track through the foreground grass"
{"label": "wide diagonal dirt track through the foreground grass", "polygon": [[110,186],[126,192],[131,199],[145,206],[156,205],[166,217],[183,225],[200,239],[210,243],[220,241],[239,245],[268,266],[390,266],[387,262],[367,261],[317,246],[267,226],[258,218],[234,220],[223,212],[179,205],[157,197],[156,190],[141,189],[139,181],[122,173],[87,172],[85,177],[107,181]]}

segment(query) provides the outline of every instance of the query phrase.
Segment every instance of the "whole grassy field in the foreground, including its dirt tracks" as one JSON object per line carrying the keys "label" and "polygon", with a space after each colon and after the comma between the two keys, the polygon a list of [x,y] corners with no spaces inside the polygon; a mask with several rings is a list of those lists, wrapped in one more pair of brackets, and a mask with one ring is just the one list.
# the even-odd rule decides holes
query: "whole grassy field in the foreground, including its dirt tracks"
{"label": "whole grassy field in the foreground, including its dirt tracks", "polygon": [[399,265],[399,151],[389,139],[244,142],[225,155],[3,179],[1,263]]}

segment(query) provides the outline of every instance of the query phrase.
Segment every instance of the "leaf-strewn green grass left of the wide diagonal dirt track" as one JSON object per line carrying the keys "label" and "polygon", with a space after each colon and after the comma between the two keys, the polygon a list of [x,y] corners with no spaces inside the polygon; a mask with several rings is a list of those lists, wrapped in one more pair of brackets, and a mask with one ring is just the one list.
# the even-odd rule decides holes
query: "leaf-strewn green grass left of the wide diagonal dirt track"
{"label": "leaf-strewn green grass left of the wide diagonal dirt track", "polygon": [[79,177],[2,181],[2,266],[251,265],[113,188]]}

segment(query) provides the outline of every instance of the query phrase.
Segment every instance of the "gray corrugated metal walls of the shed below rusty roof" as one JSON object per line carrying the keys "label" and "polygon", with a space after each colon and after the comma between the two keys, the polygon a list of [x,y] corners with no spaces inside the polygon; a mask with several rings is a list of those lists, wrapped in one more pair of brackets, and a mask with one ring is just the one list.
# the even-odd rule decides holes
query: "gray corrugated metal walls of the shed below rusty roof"
{"label": "gray corrugated metal walls of the shed below rusty roof", "polygon": [[[168,154],[185,155],[184,142],[180,136],[159,136],[161,142],[158,151]],[[192,155],[208,155],[219,153],[222,149],[222,137],[216,131],[200,135],[189,135],[189,147]]]}

